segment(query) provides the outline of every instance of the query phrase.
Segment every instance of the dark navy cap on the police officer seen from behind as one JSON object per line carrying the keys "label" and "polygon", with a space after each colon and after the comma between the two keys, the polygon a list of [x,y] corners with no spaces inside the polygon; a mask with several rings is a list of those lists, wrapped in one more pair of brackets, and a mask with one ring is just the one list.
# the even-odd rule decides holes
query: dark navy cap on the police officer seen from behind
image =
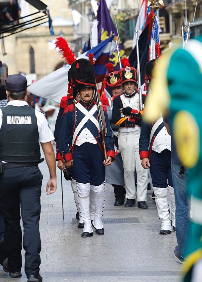
{"label": "dark navy cap on the police officer seen from behind", "polygon": [[6,90],[11,92],[21,92],[27,89],[27,79],[19,74],[10,75],[6,79]]}

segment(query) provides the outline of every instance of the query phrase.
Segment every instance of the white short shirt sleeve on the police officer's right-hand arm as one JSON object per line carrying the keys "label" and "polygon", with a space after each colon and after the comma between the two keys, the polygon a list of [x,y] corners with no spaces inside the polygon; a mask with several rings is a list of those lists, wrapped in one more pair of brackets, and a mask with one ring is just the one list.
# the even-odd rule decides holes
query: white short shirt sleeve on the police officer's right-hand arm
{"label": "white short shirt sleeve on the police officer's right-hand arm", "polygon": [[54,136],[52,134],[51,129],[49,128],[47,119],[45,118],[42,112],[35,110],[35,115],[37,118],[37,126],[39,132],[39,142],[47,143],[54,140]]}

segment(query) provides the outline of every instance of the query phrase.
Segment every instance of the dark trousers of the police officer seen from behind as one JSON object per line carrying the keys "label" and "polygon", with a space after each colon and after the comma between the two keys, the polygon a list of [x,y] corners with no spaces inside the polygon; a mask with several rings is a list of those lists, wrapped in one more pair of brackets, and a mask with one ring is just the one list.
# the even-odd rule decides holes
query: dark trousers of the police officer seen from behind
{"label": "dark trousers of the police officer seen from behind", "polygon": [[37,166],[6,169],[0,176],[0,212],[5,222],[4,250],[11,272],[18,272],[22,267],[21,207],[25,273],[27,275],[39,273],[42,178]]}

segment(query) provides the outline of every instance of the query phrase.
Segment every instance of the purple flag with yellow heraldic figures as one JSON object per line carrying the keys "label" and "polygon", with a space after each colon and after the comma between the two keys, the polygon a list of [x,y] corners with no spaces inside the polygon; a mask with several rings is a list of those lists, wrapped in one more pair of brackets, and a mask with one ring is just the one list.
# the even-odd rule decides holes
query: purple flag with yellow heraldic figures
{"label": "purple flag with yellow heraldic figures", "polygon": [[[99,22],[98,23],[98,43],[100,43],[101,41],[104,41],[107,38],[109,38],[111,31],[114,31],[116,36],[118,34],[113,24],[113,21],[111,19],[109,10],[107,8],[106,1],[100,0],[100,2],[98,2],[98,5],[99,5],[98,11],[97,11],[97,19]],[[119,44],[119,50],[120,50],[120,57],[125,55],[122,44]],[[115,71],[120,70],[118,54],[116,50],[110,56],[109,62],[113,64]]]}

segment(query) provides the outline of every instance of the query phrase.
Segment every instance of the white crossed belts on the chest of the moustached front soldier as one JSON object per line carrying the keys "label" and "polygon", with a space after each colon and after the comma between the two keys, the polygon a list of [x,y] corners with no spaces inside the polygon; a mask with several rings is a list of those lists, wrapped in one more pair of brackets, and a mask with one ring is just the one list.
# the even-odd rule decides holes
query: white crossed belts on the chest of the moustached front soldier
{"label": "white crossed belts on the chest of the moustached front soldier", "polygon": [[75,104],[75,107],[77,107],[85,115],[85,117],[81,120],[81,122],[78,124],[78,126],[75,129],[75,132],[72,138],[72,147],[76,140],[77,134],[79,133],[81,128],[87,123],[89,119],[91,120],[92,123],[95,124],[96,128],[100,131],[100,124],[96,120],[96,118],[93,117],[93,114],[97,111],[97,105],[94,105],[89,112],[80,103]]}

